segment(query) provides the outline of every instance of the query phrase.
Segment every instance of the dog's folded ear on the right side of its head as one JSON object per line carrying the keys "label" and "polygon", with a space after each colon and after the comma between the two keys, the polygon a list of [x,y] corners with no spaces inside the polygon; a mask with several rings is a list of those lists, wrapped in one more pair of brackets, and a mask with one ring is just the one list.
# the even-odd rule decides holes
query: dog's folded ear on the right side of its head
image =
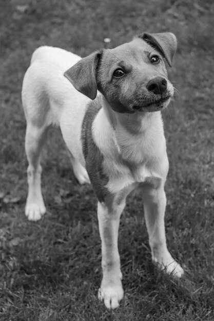
{"label": "dog's folded ear on the right side of its head", "polygon": [[177,39],[173,33],[142,33],[138,37],[157,49],[165,57],[169,66],[172,66],[172,58],[177,49]]}

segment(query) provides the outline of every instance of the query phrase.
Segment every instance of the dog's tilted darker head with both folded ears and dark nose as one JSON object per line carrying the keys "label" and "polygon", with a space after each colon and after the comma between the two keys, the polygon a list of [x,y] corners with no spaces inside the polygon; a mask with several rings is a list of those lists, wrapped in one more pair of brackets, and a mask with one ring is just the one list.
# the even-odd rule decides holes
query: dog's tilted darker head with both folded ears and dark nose
{"label": "dog's tilted darker head with both folded ears and dark nose", "polygon": [[164,58],[171,67],[176,49],[172,33],[142,33],[129,43],[81,59],[65,76],[91,99],[99,90],[114,111],[158,111],[173,96]]}

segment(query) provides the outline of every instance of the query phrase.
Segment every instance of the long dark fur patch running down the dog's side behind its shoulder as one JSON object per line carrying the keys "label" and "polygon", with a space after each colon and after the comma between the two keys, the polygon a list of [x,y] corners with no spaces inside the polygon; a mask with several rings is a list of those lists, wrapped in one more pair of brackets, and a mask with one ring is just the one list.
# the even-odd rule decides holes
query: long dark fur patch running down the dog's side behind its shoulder
{"label": "long dark fur patch running down the dog's side behind its shoulder", "polygon": [[94,143],[92,137],[92,123],[100,109],[101,102],[99,98],[88,104],[83,119],[81,139],[88,176],[99,202],[103,202],[108,193],[108,189],[105,187],[108,183],[108,177],[103,172],[103,154]]}

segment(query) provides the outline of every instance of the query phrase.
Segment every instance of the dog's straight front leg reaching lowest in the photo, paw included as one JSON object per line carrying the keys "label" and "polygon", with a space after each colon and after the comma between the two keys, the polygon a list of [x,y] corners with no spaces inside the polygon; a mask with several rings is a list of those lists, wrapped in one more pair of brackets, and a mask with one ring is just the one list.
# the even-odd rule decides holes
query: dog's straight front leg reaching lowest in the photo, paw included
{"label": "dog's straight front leg reaching lowest in the photo, paw included", "polygon": [[123,298],[122,273],[118,251],[120,216],[125,202],[116,207],[112,202],[98,203],[99,230],[102,241],[103,279],[99,298],[108,309],[115,309]]}

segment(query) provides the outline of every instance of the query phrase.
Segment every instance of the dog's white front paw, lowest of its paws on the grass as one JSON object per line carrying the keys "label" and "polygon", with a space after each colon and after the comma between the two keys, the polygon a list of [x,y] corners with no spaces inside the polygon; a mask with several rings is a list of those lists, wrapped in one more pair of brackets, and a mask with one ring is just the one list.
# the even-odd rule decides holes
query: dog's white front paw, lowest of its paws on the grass
{"label": "dog's white front paw, lowest of its paws on the grass", "polygon": [[98,298],[104,301],[107,309],[116,309],[123,298],[122,283],[119,285],[109,284],[102,286],[98,291]]}

